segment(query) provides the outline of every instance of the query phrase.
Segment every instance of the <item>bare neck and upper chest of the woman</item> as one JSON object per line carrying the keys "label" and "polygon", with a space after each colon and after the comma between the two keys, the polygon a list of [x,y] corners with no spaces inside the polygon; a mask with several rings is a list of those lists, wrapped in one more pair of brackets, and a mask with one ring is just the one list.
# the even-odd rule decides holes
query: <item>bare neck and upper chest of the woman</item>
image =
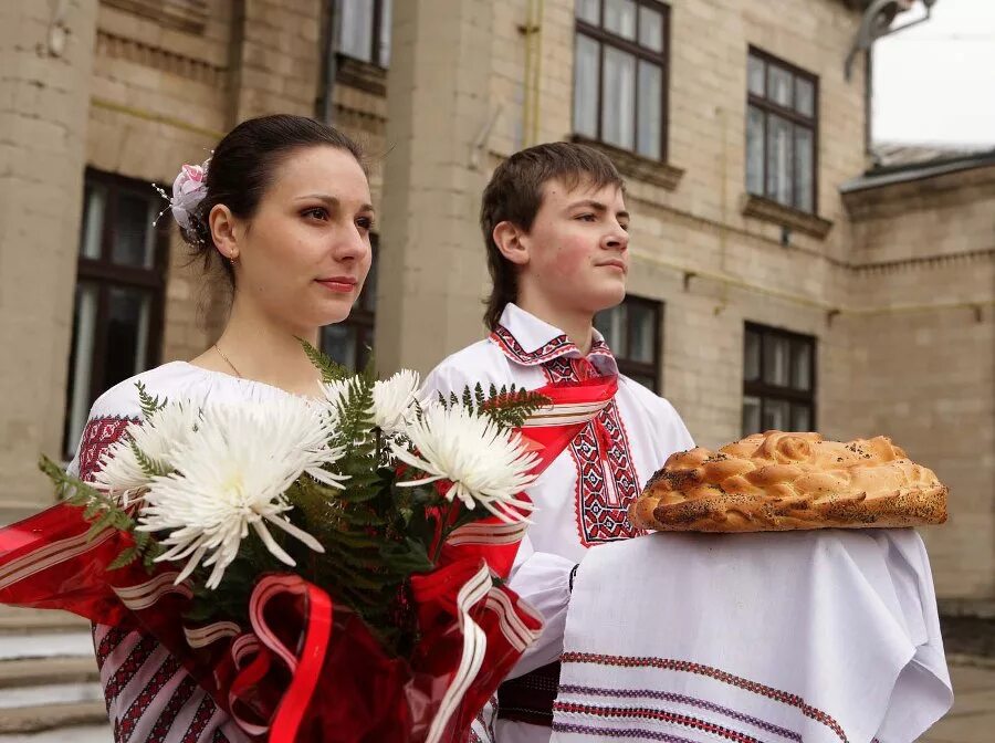
{"label": "bare neck and upper chest of the woman", "polygon": [[282,325],[235,296],[217,347],[208,348],[191,363],[295,395],[317,395],[318,372],[297,338],[316,346],[318,329]]}

